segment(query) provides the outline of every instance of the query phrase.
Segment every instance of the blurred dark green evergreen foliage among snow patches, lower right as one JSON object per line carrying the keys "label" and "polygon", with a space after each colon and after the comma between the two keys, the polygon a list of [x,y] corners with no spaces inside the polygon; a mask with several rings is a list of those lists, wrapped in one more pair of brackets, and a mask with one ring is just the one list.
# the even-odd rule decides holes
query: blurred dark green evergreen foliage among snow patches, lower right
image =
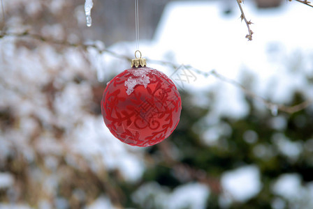
{"label": "blurred dark green evergreen foliage among snow patches, lower right", "polygon": [[[286,140],[305,146],[305,142],[312,140],[313,137],[312,109],[291,115],[279,113],[278,116],[272,116],[270,111],[262,112],[256,109],[252,100],[247,98],[249,114],[239,120],[221,118],[222,123],[231,127],[231,134],[222,135],[217,140],[216,146],[208,146],[201,139],[201,133],[195,131],[195,126],[214,110],[210,107],[208,109],[198,107],[191,100],[191,95],[186,92],[182,93],[182,101],[182,115],[177,129],[166,141],[147,148],[146,156],[150,159],[147,161],[149,162],[147,170],[140,183],[123,185],[123,190],[129,193],[126,196],[131,196],[138,187],[149,182],[157,182],[162,187],[167,187],[169,191],[185,183],[199,182],[210,187],[207,208],[222,208],[219,196],[225,191],[221,189],[221,175],[225,171],[254,164],[261,171],[263,185],[261,192],[247,202],[233,201],[228,208],[272,208],[272,201],[275,198],[284,199],[272,192],[272,185],[280,175],[298,173],[303,179],[303,184],[313,180],[312,152],[303,149],[298,157],[291,159],[288,153],[286,155],[280,150],[277,144],[277,140],[280,139],[275,139],[284,136]],[[298,104],[301,101],[302,95],[295,93],[291,104]],[[277,128],[277,124],[274,124],[277,123],[275,122],[277,117],[279,120],[286,120],[286,125]],[[249,134],[253,134],[252,138],[256,139],[249,141]],[[125,187],[127,189],[124,189]],[[145,207],[160,208],[155,197],[150,196],[145,201]],[[288,199],[284,201],[285,208],[293,208]],[[131,198],[127,199],[124,206],[145,208],[134,203]],[[296,208],[299,206],[300,203]]]}

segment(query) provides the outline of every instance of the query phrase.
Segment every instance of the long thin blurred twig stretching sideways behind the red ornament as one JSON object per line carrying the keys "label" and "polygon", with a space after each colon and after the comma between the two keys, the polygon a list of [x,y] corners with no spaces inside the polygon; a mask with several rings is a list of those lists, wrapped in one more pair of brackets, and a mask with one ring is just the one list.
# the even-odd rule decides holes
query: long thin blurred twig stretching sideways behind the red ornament
{"label": "long thin blurred twig stretching sideways behind the red ornament", "polygon": [[[66,40],[65,41],[51,40],[51,39],[45,38],[45,37],[38,35],[38,34],[29,33],[28,31],[25,31],[23,33],[3,33],[3,35],[0,36],[0,38],[3,38],[5,36],[33,38],[36,40],[41,40],[43,42],[49,42],[49,43],[56,44],[56,45],[66,45],[68,47],[82,47],[82,49],[85,49],[85,50],[88,47],[92,47],[92,48],[96,49],[100,54],[108,53],[108,54],[115,56],[119,59],[126,59],[127,61],[131,61],[131,59],[132,59],[129,56],[117,54],[117,53],[112,52],[108,49],[100,49],[97,45],[89,45],[89,44],[83,44],[83,43],[71,43],[71,42],[68,42]],[[171,68],[174,68],[174,69],[178,68],[180,66],[180,65],[177,65],[175,63],[168,62],[168,61],[157,61],[157,60],[151,60],[151,59],[149,59],[149,61],[153,62],[153,63],[159,63],[161,65],[169,65]],[[228,77],[225,77],[224,75],[219,74],[215,70],[211,70],[210,72],[204,72],[202,70],[192,68],[191,66],[189,66],[188,68],[189,68],[189,70],[193,70],[194,72],[196,72],[198,75],[203,75],[204,77],[208,77],[208,76],[212,75],[215,78],[221,80],[222,82],[226,82],[228,84],[231,84],[233,86],[240,88],[245,93],[245,95],[249,96],[250,98],[254,98],[254,100],[258,100],[259,102],[263,103],[265,105],[265,107],[270,109],[271,111],[275,108],[276,110],[286,112],[288,114],[293,114],[293,113],[301,111],[301,110],[303,110],[303,109],[305,109],[305,108],[307,108],[313,104],[313,100],[305,100],[304,102],[301,102],[300,104],[296,104],[293,106],[286,106],[284,104],[277,104],[274,102],[270,102],[268,100],[265,100],[265,98],[262,98],[261,96],[256,95],[255,93],[253,93],[249,89],[245,88],[245,86],[242,86],[242,84],[240,84],[239,82],[237,82],[233,79],[229,79]]]}

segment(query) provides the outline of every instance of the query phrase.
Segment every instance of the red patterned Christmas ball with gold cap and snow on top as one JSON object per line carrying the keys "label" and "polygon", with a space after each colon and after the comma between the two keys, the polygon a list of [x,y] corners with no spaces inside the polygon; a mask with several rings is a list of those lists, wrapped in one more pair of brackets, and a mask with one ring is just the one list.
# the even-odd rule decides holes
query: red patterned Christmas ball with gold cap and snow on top
{"label": "red patterned Christmas ball with gold cap and snow on top", "polygon": [[182,100],[163,72],[146,67],[141,53],[139,59],[132,60],[131,67],[108,82],[101,100],[103,120],[120,141],[131,146],[152,146],[175,130]]}

